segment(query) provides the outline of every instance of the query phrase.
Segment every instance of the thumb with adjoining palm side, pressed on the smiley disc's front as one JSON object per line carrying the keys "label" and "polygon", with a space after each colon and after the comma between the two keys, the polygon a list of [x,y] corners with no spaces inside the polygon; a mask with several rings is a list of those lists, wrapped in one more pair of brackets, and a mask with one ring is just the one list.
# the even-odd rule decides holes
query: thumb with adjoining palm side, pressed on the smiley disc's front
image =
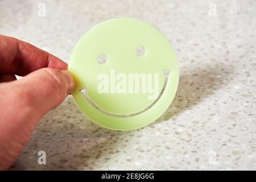
{"label": "thumb with adjoining palm side, pressed on the smiley disc's front", "polygon": [[0,169],[15,162],[36,123],[61,104],[74,86],[68,71],[53,68],[0,84]]}

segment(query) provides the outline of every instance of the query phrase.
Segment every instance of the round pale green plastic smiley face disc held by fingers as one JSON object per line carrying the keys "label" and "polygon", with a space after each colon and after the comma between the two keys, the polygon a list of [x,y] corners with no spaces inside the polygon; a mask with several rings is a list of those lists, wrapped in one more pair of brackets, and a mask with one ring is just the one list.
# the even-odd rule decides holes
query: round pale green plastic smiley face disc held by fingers
{"label": "round pale green plastic smiley face disc held by fingers", "polygon": [[175,52],[154,26],[138,19],[110,19],[90,29],[73,50],[72,96],[92,121],[133,130],[158,119],[179,83]]}

